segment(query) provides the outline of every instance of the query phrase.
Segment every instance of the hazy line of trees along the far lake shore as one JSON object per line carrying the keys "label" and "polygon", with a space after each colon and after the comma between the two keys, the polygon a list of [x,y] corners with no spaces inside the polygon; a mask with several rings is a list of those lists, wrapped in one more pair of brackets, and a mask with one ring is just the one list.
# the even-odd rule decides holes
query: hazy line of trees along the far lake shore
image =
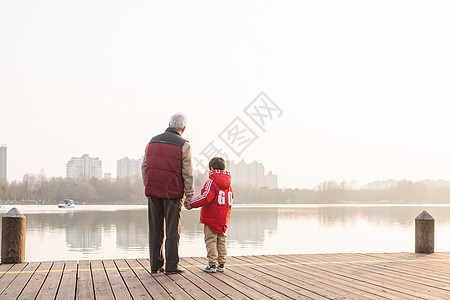
{"label": "hazy line of trees along the far lake shore", "polygon": [[[196,192],[201,183],[196,180]],[[334,181],[321,182],[314,189],[269,189],[233,187],[234,203],[241,204],[323,204],[323,203],[450,203],[450,187],[421,182],[400,181],[396,186],[380,189],[351,190]],[[74,182],[64,178],[41,178],[0,183],[0,203],[56,204],[62,199],[84,204],[146,204],[142,179],[115,181],[93,178]]]}

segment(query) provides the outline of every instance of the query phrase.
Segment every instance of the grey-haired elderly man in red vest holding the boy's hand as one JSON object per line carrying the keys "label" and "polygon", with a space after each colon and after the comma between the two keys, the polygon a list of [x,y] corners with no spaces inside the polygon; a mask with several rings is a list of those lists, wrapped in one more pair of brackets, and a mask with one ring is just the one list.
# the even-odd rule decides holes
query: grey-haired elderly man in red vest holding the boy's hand
{"label": "grey-haired elderly man in red vest holding the boy's hand", "polygon": [[148,197],[150,265],[152,274],[164,272],[164,221],[166,227],[165,273],[179,274],[181,202],[194,195],[192,155],[189,142],[181,137],[186,117],[177,113],[169,128],[153,137],[145,148],[142,178]]}

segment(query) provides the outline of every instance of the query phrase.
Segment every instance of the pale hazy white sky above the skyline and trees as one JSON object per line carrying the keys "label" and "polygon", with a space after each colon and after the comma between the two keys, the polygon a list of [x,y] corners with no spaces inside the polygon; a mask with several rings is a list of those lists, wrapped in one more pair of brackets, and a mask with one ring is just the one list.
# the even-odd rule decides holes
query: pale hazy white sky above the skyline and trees
{"label": "pale hazy white sky above the skyline and trees", "polygon": [[[450,180],[448,1],[0,1],[8,180],[140,158],[177,111],[199,157],[236,118],[230,159],[279,186]],[[265,132],[244,113],[264,91]]]}

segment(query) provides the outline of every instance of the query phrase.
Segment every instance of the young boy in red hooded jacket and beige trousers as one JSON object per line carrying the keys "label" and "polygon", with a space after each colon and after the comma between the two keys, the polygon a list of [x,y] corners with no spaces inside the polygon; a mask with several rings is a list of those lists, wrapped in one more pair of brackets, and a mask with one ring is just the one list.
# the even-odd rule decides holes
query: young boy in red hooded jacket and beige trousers
{"label": "young boy in red hooded jacket and beige trousers", "polygon": [[209,169],[209,179],[202,189],[202,194],[191,199],[187,208],[202,207],[200,221],[205,224],[204,234],[208,253],[208,265],[203,271],[215,273],[225,271],[227,255],[225,232],[233,204],[233,189],[230,185],[230,172],[225,171],[225,161],[222,158],[211,159]]}

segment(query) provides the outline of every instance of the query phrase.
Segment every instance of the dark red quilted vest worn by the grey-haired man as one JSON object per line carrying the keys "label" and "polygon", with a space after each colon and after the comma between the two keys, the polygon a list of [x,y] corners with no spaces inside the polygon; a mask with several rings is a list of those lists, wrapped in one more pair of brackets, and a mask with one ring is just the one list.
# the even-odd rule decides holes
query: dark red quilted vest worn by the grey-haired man
{"label": "dark red quilted vest worn by the grey-haired man", "polygon": [[148,145],[145,195],[163,199],[184,197],[181,173],[182,147],[186,142],[174,128],[167,128]]}

